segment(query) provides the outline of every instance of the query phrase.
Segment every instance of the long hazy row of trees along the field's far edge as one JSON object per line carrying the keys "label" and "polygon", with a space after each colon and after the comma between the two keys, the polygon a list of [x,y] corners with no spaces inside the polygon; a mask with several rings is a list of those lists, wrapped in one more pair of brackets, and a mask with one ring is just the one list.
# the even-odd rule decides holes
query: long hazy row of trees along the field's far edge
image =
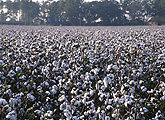
{"label": "long hazy row of trees along the field's far edge", "polygon": [[0,1],[0,23],[46,25],[165,24],[165,0]]}

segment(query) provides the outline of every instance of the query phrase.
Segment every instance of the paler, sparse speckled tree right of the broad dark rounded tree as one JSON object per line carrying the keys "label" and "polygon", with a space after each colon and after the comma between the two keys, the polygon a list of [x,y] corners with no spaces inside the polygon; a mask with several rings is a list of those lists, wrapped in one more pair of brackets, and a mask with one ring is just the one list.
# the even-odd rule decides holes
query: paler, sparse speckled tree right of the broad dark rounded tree
{"label": "paler, sparse speckled tree right of the broad dark rounded tree", "polygon": [[134,24],[145,24],[152,16],[152,0],[120,0],[121,7]]}

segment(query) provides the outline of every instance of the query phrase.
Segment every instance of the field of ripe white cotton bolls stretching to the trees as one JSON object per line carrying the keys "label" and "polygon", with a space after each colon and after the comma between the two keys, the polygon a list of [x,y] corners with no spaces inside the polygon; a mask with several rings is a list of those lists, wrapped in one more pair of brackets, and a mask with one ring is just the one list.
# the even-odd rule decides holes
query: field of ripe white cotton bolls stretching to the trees
{"label": "field of ripe white cotton bolls stretching to the trees", "polygon": [[165,27],[0,26],[0,119],[165,119]]}

